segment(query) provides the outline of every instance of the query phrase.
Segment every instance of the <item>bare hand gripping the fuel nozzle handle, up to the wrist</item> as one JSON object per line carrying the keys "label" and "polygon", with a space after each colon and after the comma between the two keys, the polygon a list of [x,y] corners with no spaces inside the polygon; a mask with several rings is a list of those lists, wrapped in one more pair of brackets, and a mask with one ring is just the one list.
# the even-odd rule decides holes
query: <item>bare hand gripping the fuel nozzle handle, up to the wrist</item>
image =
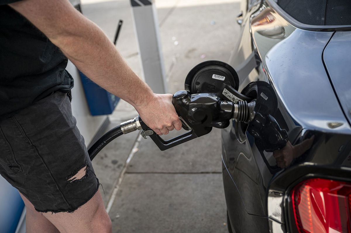
{"label": "bare hand gripping the fuel nozzle handle, up to the wrist", "polygon": [[172,104],[171,94],[153,94],[148,103],[135,106],[141,119],[158,135],[180,130],[181,122]]}

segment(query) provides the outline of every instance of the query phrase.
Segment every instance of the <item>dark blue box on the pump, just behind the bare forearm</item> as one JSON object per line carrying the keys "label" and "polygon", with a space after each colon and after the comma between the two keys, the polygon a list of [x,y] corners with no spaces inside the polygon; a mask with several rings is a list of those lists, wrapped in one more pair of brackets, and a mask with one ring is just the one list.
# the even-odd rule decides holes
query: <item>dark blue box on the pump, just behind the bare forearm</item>
{"label": "dark blue box on the pump, just behind the bare forearm", "polygon": [[111,114],[119,101],[119,97],[106,91],[80,71],[79,75],[82,80],[85,97],[91,115],[98,116]]}

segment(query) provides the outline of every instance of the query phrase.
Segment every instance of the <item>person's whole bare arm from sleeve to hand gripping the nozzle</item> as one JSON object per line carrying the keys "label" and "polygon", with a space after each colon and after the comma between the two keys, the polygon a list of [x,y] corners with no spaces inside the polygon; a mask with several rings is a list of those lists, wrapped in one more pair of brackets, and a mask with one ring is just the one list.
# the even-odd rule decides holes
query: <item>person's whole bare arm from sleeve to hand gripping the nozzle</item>
{"label": "person's whole bare arm from sleeve to hand gripping the nozzle", "polygon": [[9,5],[31,21],[91,80],[132,104],[156,133],[167,134],[173,127],[181,129],[172,95],[154,94],[104,32],[68,0],[22,0]]}

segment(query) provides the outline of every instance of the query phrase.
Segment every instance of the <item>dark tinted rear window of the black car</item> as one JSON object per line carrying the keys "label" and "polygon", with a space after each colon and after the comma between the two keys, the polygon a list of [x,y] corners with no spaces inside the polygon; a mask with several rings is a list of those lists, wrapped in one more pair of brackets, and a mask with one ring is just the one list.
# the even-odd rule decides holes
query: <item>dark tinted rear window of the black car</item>
{"label": "dark tinted rear window of the black car", "polygon": [[292,18],[308,25],[351,25],[350,0],[277,0]]}

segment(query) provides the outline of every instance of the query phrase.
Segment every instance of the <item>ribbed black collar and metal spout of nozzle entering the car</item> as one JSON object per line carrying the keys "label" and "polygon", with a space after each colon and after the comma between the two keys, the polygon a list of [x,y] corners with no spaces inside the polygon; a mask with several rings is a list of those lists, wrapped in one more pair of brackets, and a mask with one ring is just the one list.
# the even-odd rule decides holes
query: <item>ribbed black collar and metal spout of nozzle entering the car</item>
{"label": "ribbed black collar and metal spout of nozzle entering the car", "polygon": [[256,112],[254,111],[256,100],[247,103],[246,101],[238,101],[233,106],[233,119],[236,122],[250,123]]}

